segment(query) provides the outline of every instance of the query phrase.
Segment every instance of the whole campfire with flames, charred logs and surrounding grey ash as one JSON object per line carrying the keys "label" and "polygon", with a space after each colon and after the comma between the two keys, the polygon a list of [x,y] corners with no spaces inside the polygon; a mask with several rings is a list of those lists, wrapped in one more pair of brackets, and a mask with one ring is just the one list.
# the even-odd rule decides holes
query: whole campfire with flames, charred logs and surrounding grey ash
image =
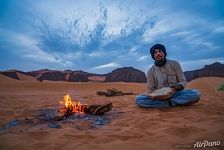
{"label": "whole campfire with flames, charred logs and surrounding grey ash", "polygon": [[[20,133],[23,132],[24,127],[29,128],[33,125],[42,125],[42,123],[48,123],[48,127],[50,128],[61,128],[64,122],[70,123],[72,120],[86,120],[90,123],[89,128],[92,128],[104,125],[109,122],[108,120],[111,119],[111,115],[114,115],[113,113],[104,115],[112,109],[112,103],[103,105],[82,104],[78,100],[73,100],[68,94],[59,103],[59,109],[40,109],[32,117],[13,119],[5,125],[0,126],[0,134],[11,131],[14,127],[17,127],[16,132],[18,131]],[[59,122],[61,120],[63,121]],[[82,128],[79,125],[76,125],[76,127],[79,129]]]}

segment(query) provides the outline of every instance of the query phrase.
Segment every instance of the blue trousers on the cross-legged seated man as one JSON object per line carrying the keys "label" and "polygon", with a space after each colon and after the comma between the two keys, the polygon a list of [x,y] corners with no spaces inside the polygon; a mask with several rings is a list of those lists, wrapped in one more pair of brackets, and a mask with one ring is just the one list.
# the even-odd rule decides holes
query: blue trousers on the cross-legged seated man
{"label": "blue trousers on the cross-legged seated man", "polygon": [[176,92],[170,98],[170,101],[152,100],[146,95],[137,95],[135,98],[135,103],[140,107],[149,108],[175,107],[196,103],[199,101],[200,97],[201,94],[198,90],[191,89]]}

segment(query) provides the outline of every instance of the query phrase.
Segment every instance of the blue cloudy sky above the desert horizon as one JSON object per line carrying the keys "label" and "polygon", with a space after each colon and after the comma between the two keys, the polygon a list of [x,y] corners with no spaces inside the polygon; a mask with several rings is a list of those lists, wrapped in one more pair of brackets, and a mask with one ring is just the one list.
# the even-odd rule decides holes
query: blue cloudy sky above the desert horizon
{"label": "blue cloudy sky above the desert horizon", "polygon": [[144,72],[162,43],[184,71],[224,63],[223,0],[0,0],[0,70]]}

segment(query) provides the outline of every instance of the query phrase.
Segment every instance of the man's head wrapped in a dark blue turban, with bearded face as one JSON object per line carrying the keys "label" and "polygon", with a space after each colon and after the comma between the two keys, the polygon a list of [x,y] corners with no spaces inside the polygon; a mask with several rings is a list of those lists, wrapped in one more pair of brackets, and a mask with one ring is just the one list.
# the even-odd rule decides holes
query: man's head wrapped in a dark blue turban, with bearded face
{"label": "man's head wrapped in a dark blue turban, with bearded face", "polygon": [[162,61],[167,55],[166,48],[162,44],[153,45],[150,49],[150,53],[155,61]]}

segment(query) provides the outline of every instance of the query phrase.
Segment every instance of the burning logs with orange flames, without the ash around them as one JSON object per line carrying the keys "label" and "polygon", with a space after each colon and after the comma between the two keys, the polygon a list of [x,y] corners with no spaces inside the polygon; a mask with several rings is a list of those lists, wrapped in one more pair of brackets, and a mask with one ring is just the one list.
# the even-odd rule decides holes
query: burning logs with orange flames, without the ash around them
{"label": "burning logs with orange flames, without the ash around them", "polygon": [[112,103],[105,105],[86,105],[80,102],[73,102],[71,97],[67,94],[64,96],[63,101],[60,101],[61,108],[58,110],[56,120],[62,120],[74,113],[91,114],[91,115],[103,115],[110,111],[113,107]]}

